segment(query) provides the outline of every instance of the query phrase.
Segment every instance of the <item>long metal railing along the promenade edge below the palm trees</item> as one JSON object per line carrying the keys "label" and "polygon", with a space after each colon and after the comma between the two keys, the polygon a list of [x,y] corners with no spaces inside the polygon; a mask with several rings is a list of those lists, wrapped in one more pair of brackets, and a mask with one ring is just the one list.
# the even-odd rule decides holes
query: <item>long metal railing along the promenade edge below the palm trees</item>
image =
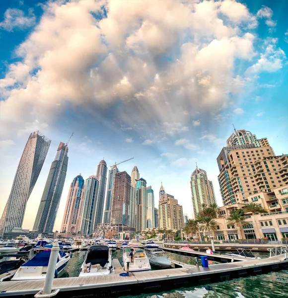
{"label": "long metal railing along the promenade edge below the palm trees", "polygon": [[[197,240],[164,240],[164,243],[167,244],[211,244],[211,240],[208,241],[197,241]],[[245,239],[245,240],[217,240],[214,239],[215,244],[288,244],[287,239],[281,241],[278,240],[257,240],[257,239]]]}

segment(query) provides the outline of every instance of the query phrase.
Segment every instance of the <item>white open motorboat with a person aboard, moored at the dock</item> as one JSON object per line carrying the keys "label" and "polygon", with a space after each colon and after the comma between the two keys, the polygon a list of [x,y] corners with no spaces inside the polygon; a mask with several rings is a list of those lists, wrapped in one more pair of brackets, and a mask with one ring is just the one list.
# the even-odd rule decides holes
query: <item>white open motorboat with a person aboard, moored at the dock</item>
{"label": "white open motorboat with a person aboard, moored at the dock", "polygon": [[149,271],[151,266],[148,257],[143,249],[143,245],[128,245],[123,249],[122,261],[124,270],[130,272]]}

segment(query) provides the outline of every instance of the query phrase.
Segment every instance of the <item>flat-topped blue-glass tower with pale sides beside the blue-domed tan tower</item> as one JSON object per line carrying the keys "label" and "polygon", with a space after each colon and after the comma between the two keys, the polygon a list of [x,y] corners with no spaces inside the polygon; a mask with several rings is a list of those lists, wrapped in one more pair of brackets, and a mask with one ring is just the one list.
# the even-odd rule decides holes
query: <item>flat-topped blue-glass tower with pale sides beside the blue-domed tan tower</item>
{"label": "flat-topped blue-glass tower with pale sides beside the blue-domed tan tower", "polygon": [[92,234],[97,226],[97,224],[95,225],[94,223],[96,216],[98,183],[96,176],[90,176],[85,182],[84,201],[82,207],[83,211],[80,223],[80,231],[83,235]]}

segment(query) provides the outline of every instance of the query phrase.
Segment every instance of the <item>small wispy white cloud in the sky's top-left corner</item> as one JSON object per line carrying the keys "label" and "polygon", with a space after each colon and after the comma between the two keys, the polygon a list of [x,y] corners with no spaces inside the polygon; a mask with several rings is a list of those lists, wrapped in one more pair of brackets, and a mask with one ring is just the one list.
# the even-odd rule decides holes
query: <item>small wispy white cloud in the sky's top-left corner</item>
{"label": "small wispy white cloud in the sky's top-left corner", "polygon": [[4,20],[0,22],[0,29],[6,31],[13,31],[17,28],[24,30],[28,27],[34,26],[36,17],[33,9],[29,9],[28,15],[25,16],[24,11],[17,8],[8,8],[4,13]]}

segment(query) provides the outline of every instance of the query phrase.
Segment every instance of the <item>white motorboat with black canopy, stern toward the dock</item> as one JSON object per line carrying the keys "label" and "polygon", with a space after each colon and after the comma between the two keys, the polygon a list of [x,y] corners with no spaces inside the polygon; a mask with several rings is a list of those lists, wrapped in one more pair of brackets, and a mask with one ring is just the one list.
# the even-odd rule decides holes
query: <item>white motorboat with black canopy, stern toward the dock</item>
{"label": "white motorboat with black canopy, stern toward the dock", "polygon": [[108,275],[111,273],[115,273],[112,250],[107,245],[90,246],[79,276]]}

